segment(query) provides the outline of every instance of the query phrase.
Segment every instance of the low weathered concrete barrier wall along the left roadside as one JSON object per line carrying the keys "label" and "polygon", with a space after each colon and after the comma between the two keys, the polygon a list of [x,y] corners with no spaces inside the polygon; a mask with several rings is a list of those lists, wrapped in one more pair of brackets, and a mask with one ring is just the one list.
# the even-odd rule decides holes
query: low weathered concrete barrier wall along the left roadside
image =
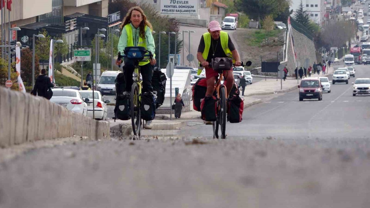
{"label": "low weathered concrete barrier wall along the left roadside", "polygon": [[73,135],[107,139],[109,133],[107,121],[92,120],[43,97],[0,87],[0,147]]}

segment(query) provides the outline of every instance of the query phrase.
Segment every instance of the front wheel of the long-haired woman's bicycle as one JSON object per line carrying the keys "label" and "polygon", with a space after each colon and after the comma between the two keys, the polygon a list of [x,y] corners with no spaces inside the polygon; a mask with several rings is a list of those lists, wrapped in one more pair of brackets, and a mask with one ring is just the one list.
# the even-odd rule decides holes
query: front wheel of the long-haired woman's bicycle
{"label": "front wheel of the long-haired woman's bicycle", "polygon": [[131,88],[131,124],[135,136],[140,137],[140,101],[139,87],[137,83],[132,83]]}

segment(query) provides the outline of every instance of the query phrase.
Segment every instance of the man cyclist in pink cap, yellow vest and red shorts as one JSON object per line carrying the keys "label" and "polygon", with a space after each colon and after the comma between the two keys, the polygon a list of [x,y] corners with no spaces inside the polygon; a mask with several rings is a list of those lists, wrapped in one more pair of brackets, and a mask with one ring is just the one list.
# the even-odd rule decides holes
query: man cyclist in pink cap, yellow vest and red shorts
{"label": "man cyclist in pink cap, yellow vest and red shorts", "polygon": [[[209,67],[209,63],[212,62],[212,58],[233,58],[235,66],[241,66],[240,57],[238,51],[235,49],[234,44],[228,33],[221,31],[221,26],[218,21],[211,21],[208,25],[208,33],[204,33],[201,37],[201,41],[198,47],[198,53],[196,58],[205,67],[206,79],[207,79],[207,92],[206,96],[211,96],[215,91],[215,80],[219,76],[217,71],[214,71]],[[223,71],[223,77],[225,78],[225,85],[227,94],[230,93],[231,88],[234,84],[234,75],[232,68],[230,70]]]}

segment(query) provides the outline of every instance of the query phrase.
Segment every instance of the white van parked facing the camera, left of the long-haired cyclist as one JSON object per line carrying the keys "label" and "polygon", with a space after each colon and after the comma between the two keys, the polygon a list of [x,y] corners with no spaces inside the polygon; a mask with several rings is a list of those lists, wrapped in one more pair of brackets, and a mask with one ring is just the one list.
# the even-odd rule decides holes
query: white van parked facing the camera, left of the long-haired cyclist
{"label": "white van parked facing the camera, left of the long-haired cyclist", "polygon": [[[98,83],[97,90],[104,95],[116,95],[115,94],[115,78],[121,71],[104,71],[101,73],[100,80]],[[104,96],[105,97],[105,96]]]}

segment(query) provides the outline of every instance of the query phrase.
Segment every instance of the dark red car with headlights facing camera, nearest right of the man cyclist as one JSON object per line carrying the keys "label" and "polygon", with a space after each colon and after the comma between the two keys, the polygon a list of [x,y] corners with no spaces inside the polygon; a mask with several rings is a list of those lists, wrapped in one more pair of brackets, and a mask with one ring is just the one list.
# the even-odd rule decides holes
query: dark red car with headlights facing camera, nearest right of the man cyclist
{"label": "dark red car with headlights facing camera, nearest right of the man cyclist", "polygon": [[323,99],[323,89],[319,78],[303,78],[299,89],[299,101],[303,99]]}

